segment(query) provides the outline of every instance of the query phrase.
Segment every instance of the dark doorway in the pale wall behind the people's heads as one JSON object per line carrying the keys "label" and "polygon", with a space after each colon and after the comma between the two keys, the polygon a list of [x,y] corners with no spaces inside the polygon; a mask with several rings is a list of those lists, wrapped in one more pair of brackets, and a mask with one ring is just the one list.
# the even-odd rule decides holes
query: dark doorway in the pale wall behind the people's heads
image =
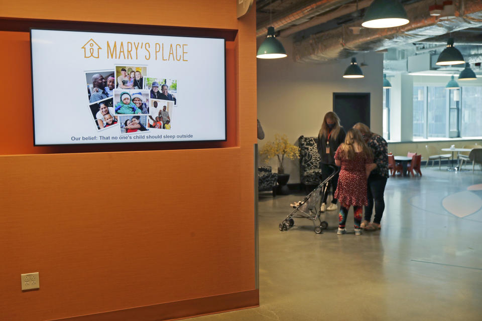
{"label": "dark doorway in the pale wall behind the people's heads", "polygon": [[333,93],[333,111],[345,131],[357,122],[370,127],[370,93]]}

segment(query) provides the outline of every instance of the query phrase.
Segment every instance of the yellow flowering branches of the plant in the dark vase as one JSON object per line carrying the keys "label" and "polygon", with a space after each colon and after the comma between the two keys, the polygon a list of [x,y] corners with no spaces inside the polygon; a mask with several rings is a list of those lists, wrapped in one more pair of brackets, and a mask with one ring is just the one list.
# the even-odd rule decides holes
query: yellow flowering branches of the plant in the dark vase
{"label": "yellow flowering branches of the plant in the dark vase", "polygon": [[278,156],[278,174],[284,174],[283,160],[300,158],[300,148],[290,144],[286,135],[276,134],[274,141],[268,141],[260,150],[264,162],[268,164],[271,158]]}

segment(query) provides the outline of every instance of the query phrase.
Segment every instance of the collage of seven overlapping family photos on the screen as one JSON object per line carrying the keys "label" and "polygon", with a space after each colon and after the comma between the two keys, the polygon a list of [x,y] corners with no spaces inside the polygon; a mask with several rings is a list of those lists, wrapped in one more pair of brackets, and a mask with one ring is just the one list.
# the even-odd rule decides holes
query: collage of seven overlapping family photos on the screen
{"label": "collage of seven overlapping family photos on the screen", "polygon": [[117,133],[170,130],[177,106],[177,80],[147,77],[147,66],[87,71],[89,113],[97,131]]}

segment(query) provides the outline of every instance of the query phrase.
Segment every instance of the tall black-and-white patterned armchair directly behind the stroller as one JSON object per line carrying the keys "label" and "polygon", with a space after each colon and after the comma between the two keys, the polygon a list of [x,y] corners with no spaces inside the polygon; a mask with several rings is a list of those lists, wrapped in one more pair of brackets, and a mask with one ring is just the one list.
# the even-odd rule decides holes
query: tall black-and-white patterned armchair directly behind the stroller
{"label": "tall black-and-white patterned armchair directly behind the stroller", "polygon": [[316,147],[317,137],[300,136],[300,181],[305,186],[321,183],[320,155]]}

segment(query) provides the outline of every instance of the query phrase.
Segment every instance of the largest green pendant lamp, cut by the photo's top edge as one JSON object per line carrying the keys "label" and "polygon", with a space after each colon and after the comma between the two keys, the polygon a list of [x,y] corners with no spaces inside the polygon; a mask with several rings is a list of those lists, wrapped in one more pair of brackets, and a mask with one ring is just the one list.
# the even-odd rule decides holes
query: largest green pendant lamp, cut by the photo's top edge
{"label": "largest green pendant lamp, cut by the photo's top edge", "polygon": [[407,12],[398,0],[375,0],[368,7],[362,26],[391,28],[408,24]]}

